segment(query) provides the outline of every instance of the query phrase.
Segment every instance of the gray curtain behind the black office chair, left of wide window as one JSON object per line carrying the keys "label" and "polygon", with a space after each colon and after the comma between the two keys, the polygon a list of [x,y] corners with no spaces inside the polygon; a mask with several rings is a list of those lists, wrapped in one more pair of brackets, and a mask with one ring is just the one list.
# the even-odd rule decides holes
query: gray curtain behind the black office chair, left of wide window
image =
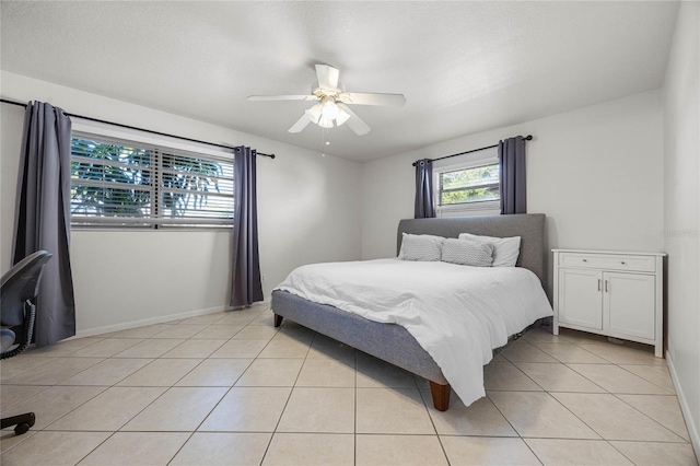
{"label": "gray curtain behind the black office chair, left of wide window", "polygon": [[24,114],[12,264],[38,249],[46,264],[36,305],[37,347],[75,335],[70,268],[71,121],[58,107],[30,102]]}

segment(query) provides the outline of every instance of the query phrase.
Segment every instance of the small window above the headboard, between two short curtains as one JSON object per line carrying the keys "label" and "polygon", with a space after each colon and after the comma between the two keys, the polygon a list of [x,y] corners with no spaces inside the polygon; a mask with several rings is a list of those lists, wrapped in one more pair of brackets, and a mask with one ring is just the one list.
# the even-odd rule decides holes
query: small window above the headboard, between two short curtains
{"label": "small window above the headboard, between two short curtains", "polygon": [[485,150],[468,155],[448,165],[433,165],[438,217],[500,213],[498,152]]}

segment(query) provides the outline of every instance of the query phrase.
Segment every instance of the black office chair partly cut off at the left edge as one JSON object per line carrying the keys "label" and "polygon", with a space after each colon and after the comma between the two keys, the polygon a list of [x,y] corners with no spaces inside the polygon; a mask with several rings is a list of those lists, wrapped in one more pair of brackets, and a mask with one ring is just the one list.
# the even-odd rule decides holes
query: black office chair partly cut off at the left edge
{"label": "black office chair partly cut off at the left edge", "polygon": [[[34,301],[39,289],[44,266],[51,258],[46,251],[37,251],[26,256],[2,276],[0,288],[2,289],[0,302],[0,359],[12,358],[24,351],[32,342],[34,319],[36,318],[36,305]],[[19,343],[11,327],[22,325],[23,338]],[[14,347],[14,348],[12,348]],[[36,418],[34,412],[12,416],[1,420],[0,429],[15,426],[18,435],[25,433],[34,426]]]}

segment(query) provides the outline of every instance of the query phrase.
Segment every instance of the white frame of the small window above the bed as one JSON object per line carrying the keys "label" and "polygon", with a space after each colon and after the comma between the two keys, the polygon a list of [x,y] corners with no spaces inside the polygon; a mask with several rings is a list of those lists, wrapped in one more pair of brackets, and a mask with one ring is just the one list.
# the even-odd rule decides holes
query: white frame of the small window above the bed
{"label": "white frame of the small window above the bed", "polygon": [[[458,155],[454,159],[445,159],[433,162],[433,207],[435,217],[471,217],[471,215],[499,215],[501,213],[501,193],[499,198],[454,205],[441,205],[443,173],[462,170],[478,168],[480,166],[499,163],[498,148],[489,148]],[[499,182],[501,173],[499,172]]]}

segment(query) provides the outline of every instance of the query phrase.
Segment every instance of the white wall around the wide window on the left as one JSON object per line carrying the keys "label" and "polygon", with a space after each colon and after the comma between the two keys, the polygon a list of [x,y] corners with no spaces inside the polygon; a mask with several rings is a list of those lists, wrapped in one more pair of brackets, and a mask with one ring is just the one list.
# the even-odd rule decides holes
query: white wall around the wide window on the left
{"label": "white wall around the wide window on the left", "polygon": [[[2,72],[4,98],[195,139],[246,144],[258,158],[258,229],[266,295],[294,267],[359,259],[361,166],[338,158],[126,102]],[[10,267],[23,109],[2,105],[0,266]],[[235,107],[231,108],[235,112]],[[224,308],[231,233],[73,230],[71,263],[79,335]],[[115,287],[115,283],[118,283]]]}

